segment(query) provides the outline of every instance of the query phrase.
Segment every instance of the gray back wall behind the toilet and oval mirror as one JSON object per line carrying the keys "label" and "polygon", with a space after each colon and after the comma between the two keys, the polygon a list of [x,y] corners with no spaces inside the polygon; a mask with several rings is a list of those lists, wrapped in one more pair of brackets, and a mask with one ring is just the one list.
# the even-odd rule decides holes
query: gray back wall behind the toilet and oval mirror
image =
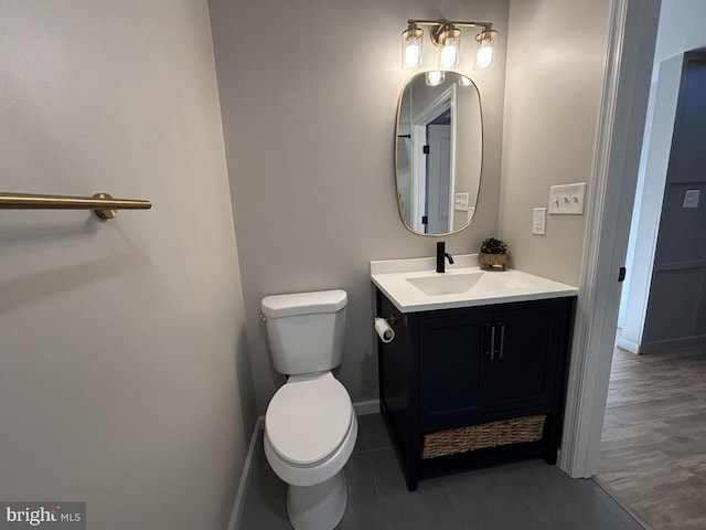
{"label": "gray back wall behind the toilet and oval mirror", "polygon": [[[375,399],[368,262],[429,256],[436,241],[407,232],[397,213],[395,114],[408,75],[400,70],[400,33],[408,18],[438,17],[489,20],[500,31],[489,73],[470,70],[474,33],[463,43],[461,71],[484,105],[484,180],[473,224],[446,241],[451,253],[475,252],[498,230],[507,1],[210,6],[259,412],[284,381],[258,318],[260,299],[274,293],[349,292],[339,377],[353,401]],[[427,35],[425,64],[432,65]]]}

